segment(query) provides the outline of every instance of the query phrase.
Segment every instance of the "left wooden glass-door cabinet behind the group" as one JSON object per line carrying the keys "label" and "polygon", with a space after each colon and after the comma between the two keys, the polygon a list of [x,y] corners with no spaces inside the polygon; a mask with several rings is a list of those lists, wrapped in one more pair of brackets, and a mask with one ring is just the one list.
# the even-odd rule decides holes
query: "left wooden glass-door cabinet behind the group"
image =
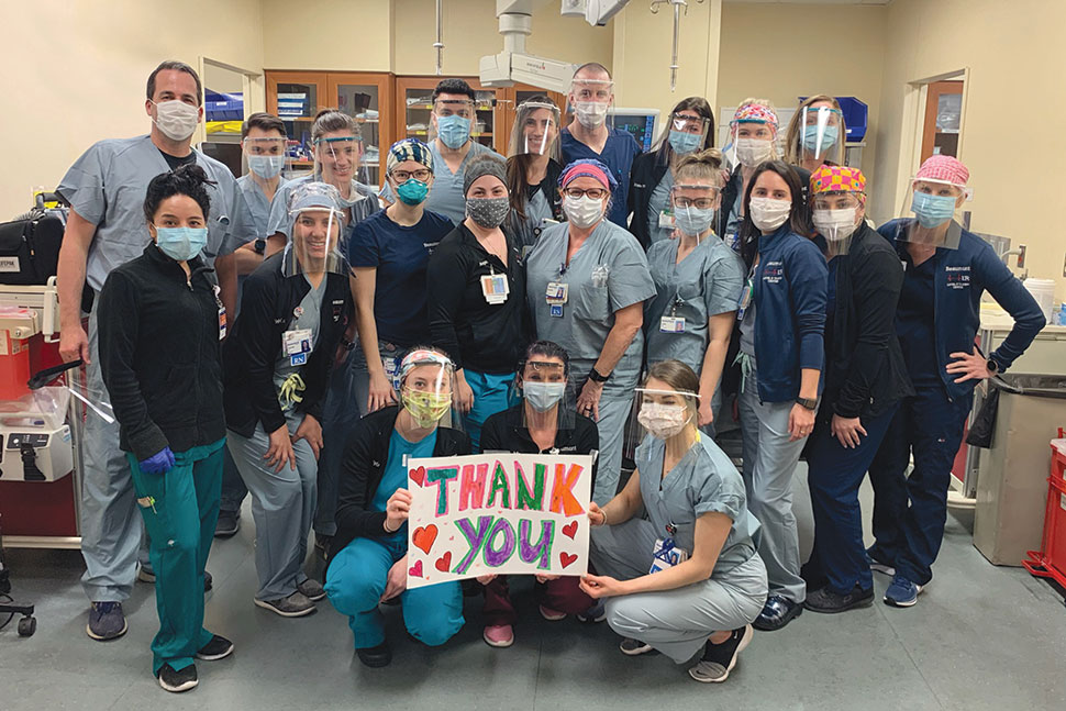
{"label": "left wooden glass-door cabinet behind the group", "polygon": [[267,71],[267,111],[285,122],[295,175],[312,167],[311,124],[322,109],[353,116],[363,134],[359,181],[380,186],[380,155],[392,144],[393,77],[368,71]]}

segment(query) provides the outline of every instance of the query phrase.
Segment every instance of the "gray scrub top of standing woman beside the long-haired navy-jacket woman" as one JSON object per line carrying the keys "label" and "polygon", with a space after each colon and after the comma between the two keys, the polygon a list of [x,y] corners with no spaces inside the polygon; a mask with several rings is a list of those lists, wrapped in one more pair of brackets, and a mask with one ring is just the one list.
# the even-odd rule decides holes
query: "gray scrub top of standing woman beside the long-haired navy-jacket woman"
{"label": "gray scrub top of standing woman beside the long-haired navy-jacket woman", "polygon": [[[647,363],[677,358],[697,375],[710,338],[707,321],[736,311],[744,287],[744,262],[710,234],[677,264],[678,240],[663,240],[647,251],[656,296],[644,309]],[[684,333],[664,333],[663,316],[685,319]]]}

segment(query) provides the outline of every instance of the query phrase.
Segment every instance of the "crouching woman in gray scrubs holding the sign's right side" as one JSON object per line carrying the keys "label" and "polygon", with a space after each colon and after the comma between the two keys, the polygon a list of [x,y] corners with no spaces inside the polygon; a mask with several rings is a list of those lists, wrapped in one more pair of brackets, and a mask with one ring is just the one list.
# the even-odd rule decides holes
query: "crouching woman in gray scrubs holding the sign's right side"
{"label": "crouching woman in gray scrubs holding the sign's right side", "polygon": [[657,649],[682,664],[702,652],[689,675],[719,682],[752,640],[767,585],[744,482],[697,430],[699,385],[691,368],[664,360],[637,389],[648,436],[625,488],[602,509],[589,507],[589,554],[603,575],[585,576],[581,589],[609,598],[623,653]]}

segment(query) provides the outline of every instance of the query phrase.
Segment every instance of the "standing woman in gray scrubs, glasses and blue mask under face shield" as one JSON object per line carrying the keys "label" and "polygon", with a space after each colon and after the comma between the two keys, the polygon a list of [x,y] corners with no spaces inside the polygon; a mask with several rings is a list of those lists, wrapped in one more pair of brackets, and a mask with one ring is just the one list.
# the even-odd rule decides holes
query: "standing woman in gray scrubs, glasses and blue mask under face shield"
{"label": "standing woman in gray scrubs, glasses and blue mask under face shield", "polygon": [[669,210],[678,236],[647,251],[656,295],[644,310],[645,362],[676,358],[700,376],[698,424],[710,436],[744,288],[744,262],[713,230],[721,166],[722,154],[710,148],[682,157],[673,170]]}

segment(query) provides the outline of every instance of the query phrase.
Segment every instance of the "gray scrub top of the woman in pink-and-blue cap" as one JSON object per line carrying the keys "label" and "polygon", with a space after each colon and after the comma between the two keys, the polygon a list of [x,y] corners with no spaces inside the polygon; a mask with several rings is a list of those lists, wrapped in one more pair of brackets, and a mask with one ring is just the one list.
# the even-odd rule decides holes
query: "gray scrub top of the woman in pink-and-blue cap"
{"label": "gray scrub top of the woman in pink-and-blue cap", "polygon": [[[655,282],[636,237],[607,219],[600,221],[570,264],[563,268],[568,243],[569,225],[566,223],[548,225],[541,233],[536,246],[526,257],[526,299],[536,337],[554,341],[566,348],[570,356],[571,377],[580,380],[600,357],[607,334],[614,325],[614,312],[654,297]],[[602,285],[592,281],[592,270],[597,267],[607,268]],[[552,315],[545,299],[547,285],[552,281],[567,285],[562,316]],[[644,336],[639,331],[614,367],[606,389],[636,385],[643,349]]]}

